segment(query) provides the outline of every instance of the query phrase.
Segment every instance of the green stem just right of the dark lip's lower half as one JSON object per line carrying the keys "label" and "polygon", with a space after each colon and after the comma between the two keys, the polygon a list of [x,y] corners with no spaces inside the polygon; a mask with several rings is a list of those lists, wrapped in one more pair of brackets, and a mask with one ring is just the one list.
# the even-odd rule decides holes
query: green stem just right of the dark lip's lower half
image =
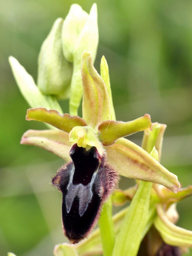
{"label": "green stem just right of the dark lip's lower half", "polygon": [[115,244],[115,230],[112,219],[111,198],[104,203],[99,219],[100,235],[103,247],[103,256],[111,256]]}

